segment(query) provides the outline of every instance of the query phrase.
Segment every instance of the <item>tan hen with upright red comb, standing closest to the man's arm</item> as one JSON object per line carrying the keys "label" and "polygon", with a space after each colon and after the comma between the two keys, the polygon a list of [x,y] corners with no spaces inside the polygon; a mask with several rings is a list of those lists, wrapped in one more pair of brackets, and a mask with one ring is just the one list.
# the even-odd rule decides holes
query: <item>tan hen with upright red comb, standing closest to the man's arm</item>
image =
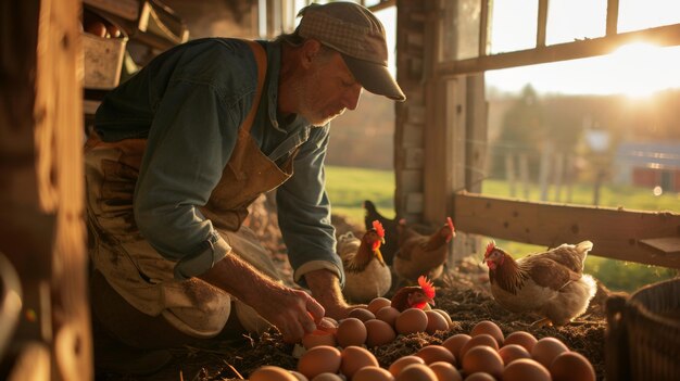
{"label": "tan hen with upright red comb, standing closest to the man's arm", "polygon": [[361,240],[352,231],[338,238],[338,254],[345,277],[342,291],[350,302],[368,303],[392,287],[392,272],[380,254],[383,240],[385,229],[377,220]]}

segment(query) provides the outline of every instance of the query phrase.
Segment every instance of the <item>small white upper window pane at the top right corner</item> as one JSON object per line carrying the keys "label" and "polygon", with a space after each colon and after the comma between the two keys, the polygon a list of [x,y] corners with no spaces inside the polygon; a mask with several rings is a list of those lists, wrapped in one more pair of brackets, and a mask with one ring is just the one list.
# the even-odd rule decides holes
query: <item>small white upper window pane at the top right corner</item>
{"label": "small white upper window pane at the top right corner", "polygon": [[678,0],[620,0],[618,31],[646,29],[680,23]]}

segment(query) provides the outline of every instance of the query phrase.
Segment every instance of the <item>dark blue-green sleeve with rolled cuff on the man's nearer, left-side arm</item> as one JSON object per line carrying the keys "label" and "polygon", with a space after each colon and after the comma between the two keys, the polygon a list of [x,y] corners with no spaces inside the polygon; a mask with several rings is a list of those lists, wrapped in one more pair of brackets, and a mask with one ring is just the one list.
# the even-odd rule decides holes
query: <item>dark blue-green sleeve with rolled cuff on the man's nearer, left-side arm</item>
{"label": "dark blue-green sleeve with rolled cuff on the man's nearer, left-side arm", "polygon": [[[222,177],[236,143],[238,120],[206,84],[171,82],[148,139],[135,194],[140,232],[164,257],[176,261],[175,277],[209,270],[230,251],[199,211]],[[222,126],[222,127],[221,127]]]}

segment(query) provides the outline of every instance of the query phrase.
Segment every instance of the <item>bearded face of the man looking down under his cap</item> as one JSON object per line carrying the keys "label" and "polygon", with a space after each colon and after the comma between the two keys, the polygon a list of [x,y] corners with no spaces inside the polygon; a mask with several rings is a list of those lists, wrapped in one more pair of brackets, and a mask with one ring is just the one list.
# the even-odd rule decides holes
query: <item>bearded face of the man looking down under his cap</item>
{"label": "bearded face of the man looking down under his cap", "polygon": [[314,126],[324,126],[347,109],[358,104],[362,86],[354,79],[340,53],[316,56],[295,86],[299,112]]}

